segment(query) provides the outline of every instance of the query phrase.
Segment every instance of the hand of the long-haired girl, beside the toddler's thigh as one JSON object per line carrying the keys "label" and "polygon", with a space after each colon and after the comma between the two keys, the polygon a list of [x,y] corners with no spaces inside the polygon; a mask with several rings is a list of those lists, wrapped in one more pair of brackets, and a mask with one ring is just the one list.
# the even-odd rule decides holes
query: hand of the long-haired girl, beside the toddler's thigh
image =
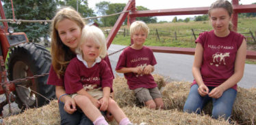
{"label": "hand of the long-haired girl, beside the toddler's thigh", "polygon": [[64,110],[69,114],[73,114],[75,111],[77,111],[75,101],[71,97],[68,97],[69,96],[66,96],[65,98]]}

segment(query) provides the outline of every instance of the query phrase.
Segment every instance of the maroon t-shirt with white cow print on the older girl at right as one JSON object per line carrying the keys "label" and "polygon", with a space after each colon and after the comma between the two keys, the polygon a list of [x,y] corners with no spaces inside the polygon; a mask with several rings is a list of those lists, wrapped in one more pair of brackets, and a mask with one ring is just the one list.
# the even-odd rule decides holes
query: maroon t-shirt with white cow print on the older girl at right
{"label": "maroon t-shirt with white cow print on the older girl at right", "polygon": [[[214,30],[200,33],[196,43],[203,46],[201,75],[206,86],[219,86],[233,75],[236,52],[243,40],[243,35],[233,31],[227,37],[217,37]],[[237,84],[232,88],[236,90]]]}

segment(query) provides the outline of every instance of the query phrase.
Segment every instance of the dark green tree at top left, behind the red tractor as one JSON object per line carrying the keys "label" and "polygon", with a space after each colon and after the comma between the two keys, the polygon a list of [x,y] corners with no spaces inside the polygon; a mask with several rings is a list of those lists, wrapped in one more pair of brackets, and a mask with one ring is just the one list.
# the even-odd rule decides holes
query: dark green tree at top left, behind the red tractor
{"label": "dark green tree at top left, behind the red tractor", "polygon": [[[19,20],[51,20],[55,14],[57,3],[52,0],[15,0],[13,1],[15,18]],[[10,0],[3,0],[6,18],[12,18],[12,5]],[[49,33],[49,23],[9,24],[17,32],[26,33],[29,41],[40,41],[40,37]]]}

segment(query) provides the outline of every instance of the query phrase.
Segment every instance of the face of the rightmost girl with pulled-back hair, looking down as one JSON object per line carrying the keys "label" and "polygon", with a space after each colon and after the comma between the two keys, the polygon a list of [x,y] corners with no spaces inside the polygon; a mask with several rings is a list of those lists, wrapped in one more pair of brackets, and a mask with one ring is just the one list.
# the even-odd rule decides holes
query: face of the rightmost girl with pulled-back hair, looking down
{"label": "face of the rightmost girl with pulled-back hair, looking down", "polygon": [[231,16],[229,16],[227,10],[224,8],[215,8],[211,10],[210,15],[209,18],[216,33],[226,33],[229,31]]}

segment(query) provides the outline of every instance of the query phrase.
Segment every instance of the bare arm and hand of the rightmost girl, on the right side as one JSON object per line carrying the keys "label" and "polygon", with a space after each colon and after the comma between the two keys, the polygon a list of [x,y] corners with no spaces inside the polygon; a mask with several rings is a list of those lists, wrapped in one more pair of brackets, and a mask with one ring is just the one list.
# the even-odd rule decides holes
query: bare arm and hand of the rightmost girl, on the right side
{"label": "bare arm and hand of the rightmost girl, on the right side", "polygon": [[229,79],[227,79],[224,83],[222,83],[220,86],[214,88],[212,92],[209,93],[209,96],[218,99],[220,96],[222,96],[222,93],[225,92],[225,90],[235,86],[240,79],[242,79],[242,76],[244,75],[244,65],[245,65],[245,59],[246,59],[246,41],[245,39],[242,41],[242,44],[240,48],[238,49],[238,52],[236,53],[235,57],[235,71]]}

